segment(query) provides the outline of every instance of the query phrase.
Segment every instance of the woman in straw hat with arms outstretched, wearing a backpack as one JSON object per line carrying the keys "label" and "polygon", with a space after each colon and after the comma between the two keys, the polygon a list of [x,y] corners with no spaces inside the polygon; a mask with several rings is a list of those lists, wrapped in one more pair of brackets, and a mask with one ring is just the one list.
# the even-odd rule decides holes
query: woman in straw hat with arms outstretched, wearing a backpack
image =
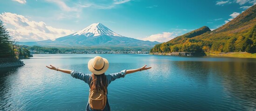
{"label": "woman in straw hat with arms outstretched, wearing a backpack", "polygon": [[[56,71],[61,71],[63,73],[71,74],[72,77],[83,80],[90,86],[90,95],[88,104],[86,106],[86,111],[110,111],[110,106],[107,99],[107,86],[111,83],[111,81],[125,77],[126,74],[131,74],[151,68],[146,68],[145,65],[142,68],[122,70],[118,73],[105,75],[106,70],[109,68],[109,62],[107,59],[100,56],[96,56],[88,62],[88,68],[92,74],[83,74],[74,70],[55,68],[52,65],[50,65],[50,67],[46,67]],[[97,101],[99,99],[100,103]]]}

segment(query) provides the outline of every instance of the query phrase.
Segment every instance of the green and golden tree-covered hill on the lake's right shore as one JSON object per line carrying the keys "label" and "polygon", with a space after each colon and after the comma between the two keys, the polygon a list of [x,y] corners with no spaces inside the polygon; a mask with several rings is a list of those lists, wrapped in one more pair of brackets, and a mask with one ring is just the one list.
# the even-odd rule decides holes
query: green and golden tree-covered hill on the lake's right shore
{"label": "green and golden tree-covered hill on the lake's right shore", "polygon": [[190,52],[193,55],[239,51],[256,53],[256,5],[214,31],[203,26],[151,49],[152,53]]}

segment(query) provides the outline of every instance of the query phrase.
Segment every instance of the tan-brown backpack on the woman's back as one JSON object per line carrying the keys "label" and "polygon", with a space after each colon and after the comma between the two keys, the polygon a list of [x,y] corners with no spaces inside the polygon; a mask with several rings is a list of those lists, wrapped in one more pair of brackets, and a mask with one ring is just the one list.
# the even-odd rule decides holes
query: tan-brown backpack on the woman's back
{"label": "tan-brown backpack on the woman's back", "polygon": [[107,103],[107,89],[106,93],[103,90],[90,90],[89,104],[90,108],[94,110],[103,110]]}

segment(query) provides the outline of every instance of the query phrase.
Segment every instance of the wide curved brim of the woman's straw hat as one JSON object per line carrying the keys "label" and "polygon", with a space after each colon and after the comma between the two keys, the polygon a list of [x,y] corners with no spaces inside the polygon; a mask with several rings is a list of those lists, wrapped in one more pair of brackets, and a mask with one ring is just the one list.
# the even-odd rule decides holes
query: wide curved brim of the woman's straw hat
{"label": "wide curved brim of the woman's straw hat", "polygon": [[90,61],[88,62],[88,68],[89,68],[90,72],[93,73],[93,74],[96,74],[96,75],[104,74],[109,68],[109,62],[105,58],[103,58],[103,60],[104,60],[104,68],[97,71],[92,67],[92,63],[94,61],[94,58],[90,59]]}

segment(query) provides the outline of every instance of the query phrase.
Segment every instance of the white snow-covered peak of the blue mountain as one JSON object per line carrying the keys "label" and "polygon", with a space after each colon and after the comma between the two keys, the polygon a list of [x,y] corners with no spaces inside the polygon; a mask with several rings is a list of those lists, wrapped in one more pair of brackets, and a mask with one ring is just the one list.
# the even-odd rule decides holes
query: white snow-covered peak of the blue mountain
{"label": "white snow-covered peak of the blue mountain", "polygon": [[100,35],[122,37],[121,35],[115,33],[114,31],[111,31],[108,27],[99,22],[93,23],[81,31],[77,31],[76,33],[74,33],[74,35],[84,35],[85,37],[96,37]]}

